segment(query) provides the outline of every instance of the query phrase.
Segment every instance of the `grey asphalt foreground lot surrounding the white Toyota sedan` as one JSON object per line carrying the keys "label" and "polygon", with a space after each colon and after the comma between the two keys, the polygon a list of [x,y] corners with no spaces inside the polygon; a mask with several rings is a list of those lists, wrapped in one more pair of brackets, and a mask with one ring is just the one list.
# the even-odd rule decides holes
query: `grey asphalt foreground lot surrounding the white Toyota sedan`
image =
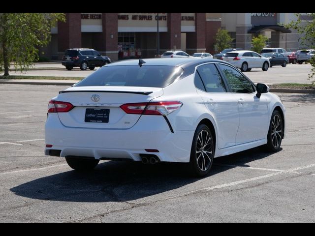
{"label": "grey asphalt foreground lot surrounding the white Toyota sedan", "polygon": [[118,161],[80,174],[45,156],[47,103],[65,88],[0,84],[0,222],[315,222],[314,94],[278,94],[281,151],[219,157],[192,178],[183,164]]}

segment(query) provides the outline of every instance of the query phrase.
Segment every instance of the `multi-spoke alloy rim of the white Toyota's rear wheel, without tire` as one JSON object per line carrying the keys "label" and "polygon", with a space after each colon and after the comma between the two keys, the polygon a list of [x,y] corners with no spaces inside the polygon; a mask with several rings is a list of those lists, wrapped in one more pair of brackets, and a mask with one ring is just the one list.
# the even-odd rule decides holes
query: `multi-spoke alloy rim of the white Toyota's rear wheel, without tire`
{"label": "multi-spoke alloy rim of the white Toyota's rear wheel, without tire", "polygon": [[210,167],[213,155],[211,135],[207,130],[202,130],[197,138],[196,160],[201,171],[206,171]]}

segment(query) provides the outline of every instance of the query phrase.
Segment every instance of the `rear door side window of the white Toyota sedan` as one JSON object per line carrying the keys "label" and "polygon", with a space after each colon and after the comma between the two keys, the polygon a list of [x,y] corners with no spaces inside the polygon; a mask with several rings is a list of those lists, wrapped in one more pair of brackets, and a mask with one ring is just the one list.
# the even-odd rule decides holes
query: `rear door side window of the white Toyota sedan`
{"label": "rear door side window of the white Toyota sedan", "polygon": [[226,92],[222,77],[214,64],[201,65],[197,72],[207,92]]}

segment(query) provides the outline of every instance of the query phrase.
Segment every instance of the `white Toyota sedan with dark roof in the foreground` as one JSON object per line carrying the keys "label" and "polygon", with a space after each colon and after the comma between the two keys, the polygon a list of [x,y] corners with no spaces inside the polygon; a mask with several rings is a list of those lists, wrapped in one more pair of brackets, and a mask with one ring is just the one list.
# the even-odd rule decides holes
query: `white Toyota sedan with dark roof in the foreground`
{"label": "white Toyota sedan with dark roof in the foreground", "polygon": [[75,170],[99,160],[183,162],[206,175],[213,158],[264,145],[280,150],[285,108],[217,59],[108,64],[48,103],[45,154]]}

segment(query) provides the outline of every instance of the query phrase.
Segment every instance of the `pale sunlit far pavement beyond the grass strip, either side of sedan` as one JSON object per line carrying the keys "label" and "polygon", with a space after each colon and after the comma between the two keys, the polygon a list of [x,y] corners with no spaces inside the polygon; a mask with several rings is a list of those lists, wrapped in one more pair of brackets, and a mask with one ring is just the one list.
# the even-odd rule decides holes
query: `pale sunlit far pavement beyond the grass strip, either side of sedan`
{"label": "pale sunlit far pavement beyond the grass strip, either side of sedan", "polygon": [[[75,67],[73,70],[68,71],[63,65],[58,63],[36,64],[35,69],[25,73],[20,71],[10,71],[10,75],[29,75],[29,76],[61,76],[61,77],[87,77],[94,71],[99,69],[96,67],[95,70],[82,71],[80,68]],[[45,68],[50,68],[45,70]],[[300,84],[311,84],[308,80],[308,74],[311,72],[312,66],[308,64],[288,64],[286,67],[273,66],[268,71],[262,71],[260,68],[254,68],[252,71],[244,72],[254,83],[265,83],[265,84],[282,84],[282,83],[300,83]]]}

